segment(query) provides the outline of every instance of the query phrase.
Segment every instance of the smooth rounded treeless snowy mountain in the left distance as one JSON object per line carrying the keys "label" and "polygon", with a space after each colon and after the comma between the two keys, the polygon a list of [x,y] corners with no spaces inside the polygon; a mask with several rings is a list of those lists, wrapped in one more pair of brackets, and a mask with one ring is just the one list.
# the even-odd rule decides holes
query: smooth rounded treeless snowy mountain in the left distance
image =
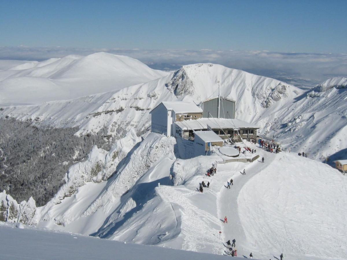
{"label": "smooth rounded treeless snowy mountain in the left distance", "polygon": [[0,71],[0,104],[42,103],[108,92],[167,75],[127,56],[99,52],[27,62]]}

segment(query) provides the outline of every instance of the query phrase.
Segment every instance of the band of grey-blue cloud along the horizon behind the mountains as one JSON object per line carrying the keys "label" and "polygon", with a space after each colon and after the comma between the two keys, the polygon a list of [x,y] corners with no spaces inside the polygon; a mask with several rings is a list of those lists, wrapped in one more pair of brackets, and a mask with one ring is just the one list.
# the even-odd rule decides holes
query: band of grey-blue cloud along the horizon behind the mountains
{"label": "band of grey-blue cloud along the horizon behind the mountains", "polygon": [[211,62],[301,86],[313,86],[328,77],[347,76],[346,53],[0,46],[0,59],[41,61],[70,54],[89,55],[101,51],[132,57],[155,69],[174,70],[185,64]]}

